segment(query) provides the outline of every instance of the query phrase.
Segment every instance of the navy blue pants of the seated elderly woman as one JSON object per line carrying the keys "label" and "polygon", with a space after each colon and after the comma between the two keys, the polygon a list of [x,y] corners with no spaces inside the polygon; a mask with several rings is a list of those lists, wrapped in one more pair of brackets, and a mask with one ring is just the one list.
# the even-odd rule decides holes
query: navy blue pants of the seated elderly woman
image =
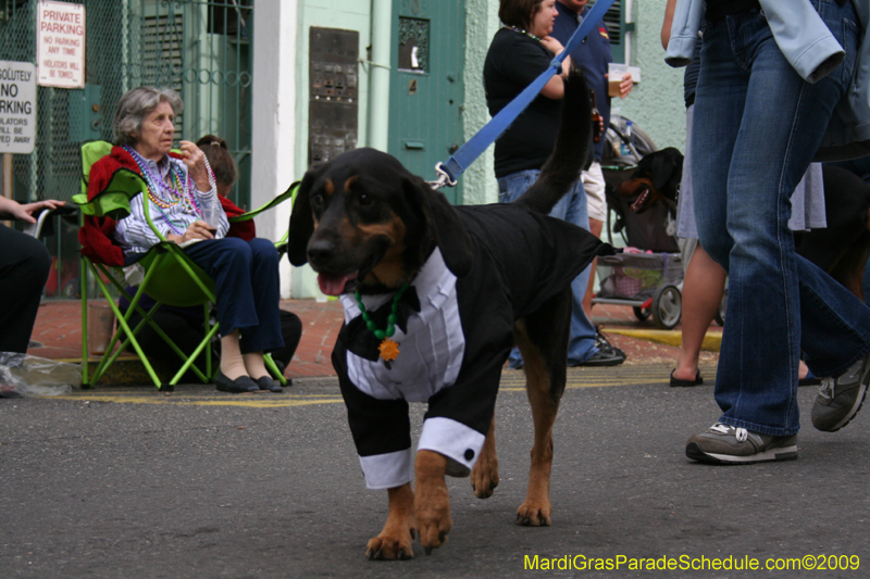
{"label": "navy blue pants of the seated elderly woman", "polygon": [[238,328],[243,354],[284,347],[278,252],[271,241],[225,237],[187,246],[184,252],[214,280],[223,336]]}

